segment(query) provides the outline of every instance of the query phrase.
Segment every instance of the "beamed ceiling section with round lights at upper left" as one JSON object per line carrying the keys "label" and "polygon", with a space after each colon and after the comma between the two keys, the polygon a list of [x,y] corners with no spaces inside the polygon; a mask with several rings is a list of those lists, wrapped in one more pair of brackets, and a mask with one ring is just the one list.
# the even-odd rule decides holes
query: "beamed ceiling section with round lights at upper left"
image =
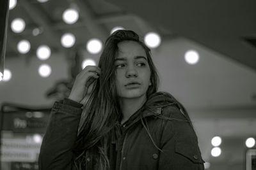
{"label": "beamed ceiling section with round lights at upper left", "polygon": [[[79,20],[75,24],[68,25],[62,20],[62,13],[67,8],[79,10]],[[23,32],[14,33],[10,24],[14,18],[23,18],[26,28]],[[18,1],[17,6],[9,13],[8,39],[6,57],[19,57],[17,43],[21,39],[31,42],[31,50],[26,55],[35,55],[39,45],[47,44],[52,52],[63,52],[60,39],[65,32],[71,32],[76,36],[76,45],[73,49],[81,49],[91,38],[99,38],[102,41],[116,25],[122,25],[125,29],[132,29],[138,34],[145,34],[152,28],[144,23],[141,18],[121,10],[121,8],[103,0],[54,0],[47,3],[39,3],[35,0]],[[33,30],[40,29],[40,34],[33,36]],[[159,32],[161,36],[169,36],[169,32]]]}

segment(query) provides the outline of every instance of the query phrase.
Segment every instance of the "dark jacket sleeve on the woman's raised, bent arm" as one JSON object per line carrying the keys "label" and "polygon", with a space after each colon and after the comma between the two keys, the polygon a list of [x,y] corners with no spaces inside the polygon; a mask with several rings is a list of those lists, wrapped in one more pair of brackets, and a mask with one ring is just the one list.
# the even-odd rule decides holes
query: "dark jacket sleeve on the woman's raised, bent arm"
{"label": "dark jacket sleeve on the woman's raised, bent arm", "polygon": [[71,170],[81,106],[69,99],[54,103],[38,158],[40,170]]}

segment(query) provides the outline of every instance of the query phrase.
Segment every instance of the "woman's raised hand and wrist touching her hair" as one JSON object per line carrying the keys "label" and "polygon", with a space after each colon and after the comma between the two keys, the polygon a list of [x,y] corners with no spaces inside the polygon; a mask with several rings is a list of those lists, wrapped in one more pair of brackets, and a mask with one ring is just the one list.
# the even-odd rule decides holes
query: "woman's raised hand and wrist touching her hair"
{"label": "woman's raised hand and wrist touching her hair", "polygon": [[83,71],[77,74],[68,99],[84,104],[82,101],[84,101],[90,85],[99,78],[99,75],[100,67],[86,66]]}

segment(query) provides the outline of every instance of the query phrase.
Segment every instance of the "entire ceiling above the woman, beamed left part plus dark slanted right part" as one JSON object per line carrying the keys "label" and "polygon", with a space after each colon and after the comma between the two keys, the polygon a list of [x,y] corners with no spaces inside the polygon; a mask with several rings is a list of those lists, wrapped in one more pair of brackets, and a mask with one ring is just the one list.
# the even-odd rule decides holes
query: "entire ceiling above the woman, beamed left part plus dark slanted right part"
{"label": "entire ceiling above the woman, beamed left part plus dark slanted right part", "polygon": [[[79,9],[76,24],[62,21],[61,14],[68,6]],[[177,36],[191,39],[256,70],[255,6],[254,0],[18,1],[17,7],[10,11],[9,20],[19,13],[27,25],[19,34],[9,27],[6,55],[19,55],[16,46],[21,38],[33,43],[30,53],[35,53],[42,43],[50,45],[53,51],[61,51],[60,38],[64,32],[75,34],[76,48],[79,48],[92,37],[106,39],[115,25],[122,25],[141,35],[157,31],[164,39]],[[35,28],[41,31],[38,36],[32,34]]]}

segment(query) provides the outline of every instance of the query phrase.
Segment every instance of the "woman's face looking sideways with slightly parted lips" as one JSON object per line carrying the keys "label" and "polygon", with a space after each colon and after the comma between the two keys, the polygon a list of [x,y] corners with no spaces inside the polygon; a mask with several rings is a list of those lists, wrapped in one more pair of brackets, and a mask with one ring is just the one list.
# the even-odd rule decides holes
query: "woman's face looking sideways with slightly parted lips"
{"label": "woman's face looking sideways with slightly parted lips", "polygon": [[146,97],[150,85],[150,67],[144,48],[136,41],[118,43],[115,59],[116,89],[120,98]]}

